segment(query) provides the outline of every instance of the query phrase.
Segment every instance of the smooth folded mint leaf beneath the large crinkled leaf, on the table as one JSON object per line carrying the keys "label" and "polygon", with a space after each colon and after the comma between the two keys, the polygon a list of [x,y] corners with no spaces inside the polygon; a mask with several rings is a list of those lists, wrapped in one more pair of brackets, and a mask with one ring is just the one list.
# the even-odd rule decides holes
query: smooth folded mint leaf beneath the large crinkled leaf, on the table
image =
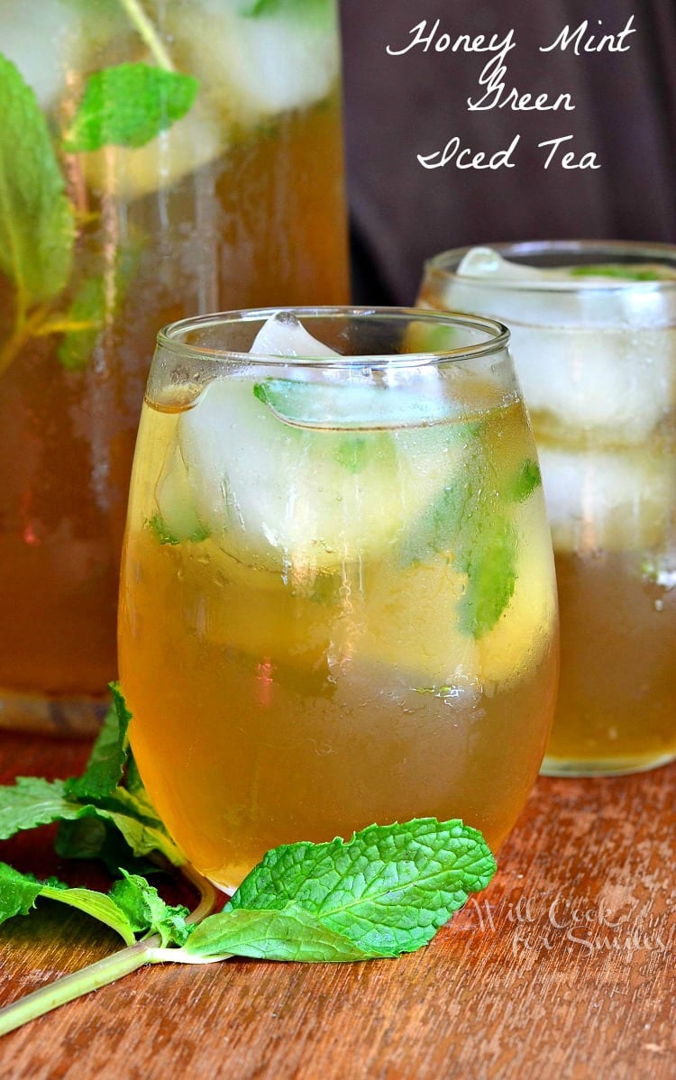
{"label": "smooth folded mint leaf beneath the large crinkled leaf, on the table", "polygon": [[[190,956],[248,956],[257,960],[374,960],[383,954],[360,948],[321,919],[289,905],[283,912],[239,909],[204,919],[184,949]],[[392,953],[392,956],[395,954]]]}

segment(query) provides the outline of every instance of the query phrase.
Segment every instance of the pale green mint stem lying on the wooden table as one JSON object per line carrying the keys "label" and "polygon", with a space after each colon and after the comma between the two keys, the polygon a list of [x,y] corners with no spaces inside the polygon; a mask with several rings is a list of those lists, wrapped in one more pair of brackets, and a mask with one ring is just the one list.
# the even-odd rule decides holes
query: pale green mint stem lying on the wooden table
{"label": "pale green mint stem lying on the wooden table", "polygon": [[[188,878],[200,891],[200,903],[186,921],[201,922],[202,919],[212,914],[216,906],[216,890],[211,881],[198,874],[192,866],[186,864],[179,869],[184,877]],[[162,963],[166,959],[174,959],[166,955],[172,953],[172,949],[158,948],[157,946],[160,944],[160,935],[153,934],[152,937],[147,937],[127,948],[119,949],[112,956],[104,957],[103,960],[90,963],[86,968],[73,971],[70,975],[64,975],[63,978],[57,978],[54,983],[49,983],[46,986],[33,990],[32,994],[25,995],[18,1001],[4,1005],[3,1009],[0,1009],[0,1036],[14,1031],[22,1024],[37,1020],[38,1016],[43,1016],[52,1009],[67,1004],[68,1001],[73,1001],[92,990],[114,983],[118,978],[131,974],[146,963]],[[174,951],[179,954],[181,950],[175,949]]]}

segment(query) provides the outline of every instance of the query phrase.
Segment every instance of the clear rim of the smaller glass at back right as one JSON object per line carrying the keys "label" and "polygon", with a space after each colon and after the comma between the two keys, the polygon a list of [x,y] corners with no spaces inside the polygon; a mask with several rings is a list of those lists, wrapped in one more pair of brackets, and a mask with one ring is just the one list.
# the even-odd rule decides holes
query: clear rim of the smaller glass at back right
{"label": "clear rim of the smaller glass at back right", "polygon": [[[456,272],[457,265],[462,257],[475,247],[486,247],[498,252],[502,256],[518,256],[527,258],[529,255],[560,254],[576,255],[598,252],[613,258],[606,261],[621,261],[622,255],[637,258],[641,257],[650,262],[671,262],[676,270],[676,245],[663,244],[658,241],[639,240],[517,240],[500,241],[499,243],[469,244],[464,247],[449,247],[445,252],[438,252],[431,258],[425,259],[423,265],[423,281],[428,273],[434,271],[442,273],[445,278],[460,282],[463,287],[484,289],[489,286],[491,289],[504,293],[538,292],[553,294],[583,293],[586,295],[597,295],[599,293],[628,293],[637,289],[641,293],[662,293],[676,289],[676,278],[663,279],[661,281],[632,281],[607,279],[603,282],[581,281],[540,281],[536,278],[528,280],[520,278],[517,280],[499,280],[494,278],[463,275]],[[455,262],[456,267],[449,264]],[[527,264],[525,265],[527,268]]]}

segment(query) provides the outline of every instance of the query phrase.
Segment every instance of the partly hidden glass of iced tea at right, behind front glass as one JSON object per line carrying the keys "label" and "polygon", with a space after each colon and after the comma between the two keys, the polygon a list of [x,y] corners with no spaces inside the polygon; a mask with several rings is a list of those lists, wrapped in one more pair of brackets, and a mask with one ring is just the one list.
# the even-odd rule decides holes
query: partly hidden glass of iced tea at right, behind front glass
{"label": "partly hidden glass of iced tea at right, behind front glass", "polygon": [[544,771],[676,757],[676,248],[447,252],[420,302],[503,319],[552,527],[562,676]]}

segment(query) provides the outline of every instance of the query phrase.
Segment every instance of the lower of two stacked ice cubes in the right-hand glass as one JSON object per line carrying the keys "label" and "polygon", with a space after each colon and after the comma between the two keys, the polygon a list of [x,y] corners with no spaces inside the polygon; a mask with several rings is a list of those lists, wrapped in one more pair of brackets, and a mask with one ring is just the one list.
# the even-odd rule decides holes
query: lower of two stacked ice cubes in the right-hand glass
{"label": "lower of two stacked ice cubes in the right-hand glass", "polygon": [[539,448],[555,551],[640,551],[664,542],[676,461],[649,449]]}

